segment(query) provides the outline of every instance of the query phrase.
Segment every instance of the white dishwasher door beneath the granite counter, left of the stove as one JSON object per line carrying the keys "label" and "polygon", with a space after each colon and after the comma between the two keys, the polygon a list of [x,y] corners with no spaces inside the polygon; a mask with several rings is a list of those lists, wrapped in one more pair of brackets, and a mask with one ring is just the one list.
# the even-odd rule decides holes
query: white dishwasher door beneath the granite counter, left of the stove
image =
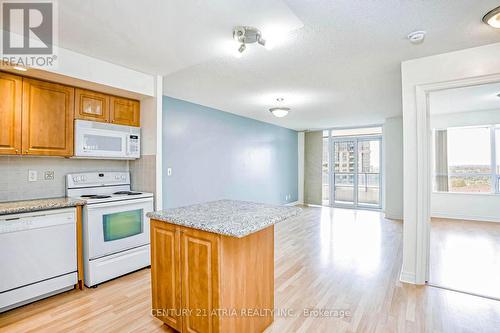
{"label": "white dishwasher door beneath the granite counter, left of the stove", "polygon": [[75,209],[0,216],[0,294],[77,270]]}

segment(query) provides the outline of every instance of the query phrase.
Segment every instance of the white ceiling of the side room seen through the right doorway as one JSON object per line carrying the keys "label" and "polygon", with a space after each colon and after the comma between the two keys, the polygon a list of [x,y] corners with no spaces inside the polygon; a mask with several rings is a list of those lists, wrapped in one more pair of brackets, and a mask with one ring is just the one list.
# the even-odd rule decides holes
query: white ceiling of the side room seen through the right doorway
{"label": "white ceiling of the side room seen through the right doorway", "polygon": [[431,114],[498,110],[500,83],[484,84],[432,92],[429,97]]}

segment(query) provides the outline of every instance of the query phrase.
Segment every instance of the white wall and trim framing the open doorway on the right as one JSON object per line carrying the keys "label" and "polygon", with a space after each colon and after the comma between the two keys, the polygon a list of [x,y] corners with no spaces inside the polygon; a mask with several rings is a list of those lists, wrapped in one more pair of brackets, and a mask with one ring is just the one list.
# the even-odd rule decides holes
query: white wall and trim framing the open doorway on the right
{"label": "white wall and trim framing the open doorway on the right", "polygon": [[423,284],[427,273],[430,209],[426,206],[430,204],[430,184],[422,180],[429,178],[426,176],[428,143],[427,147],[423,146],[429,128],[425,108],[424,112],[417,112],[417,108],[420,111],[423,106],[417,104],[422,100],[417,93],[438,83],[460,86],[462,80],[485,82],[488,81],[485,76],[496,79],[500,74],[499,54],[500,43],[496,43],[402,63],[404,230],[401,280],[404,282]]}

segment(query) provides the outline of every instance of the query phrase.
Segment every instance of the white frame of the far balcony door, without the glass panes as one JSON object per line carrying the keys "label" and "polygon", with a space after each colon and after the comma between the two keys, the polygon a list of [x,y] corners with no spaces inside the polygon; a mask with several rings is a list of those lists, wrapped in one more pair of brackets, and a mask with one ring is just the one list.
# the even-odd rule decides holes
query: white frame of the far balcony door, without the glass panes
{"label": "white frame of the far balcony door, without the glass panes", "polygon": [[[338,207],[338,208],[361,208],[361,209],[368,209],[368,210],[381,210],[382,209],[382,143],[383,143],[383,134],[373,134],[373,135],[359,135],[359,136],[342,136],[342,137],[332,137],[331,135],[331,130],[328,131],[328,152],[329,152],[329,165],[330,168],[328,170],[329,173],[329,197],[330,197],[330,206],[331,207]],[[358,155],[358,145],[359,142],[361,141],[373,141],[377,140],[379,141],[379,203],[378,206],[372,206],[372,205],[366,205],[366,204],[359,204],[359,198],[358,198],[358,162],[359,162],[359,155]],[[335,202],[335,143],[336,142],[345,142],[345,141],[353,141],[354,142],[354,172],[353,174],[353,203],[352,204],[342,204],[342,203],[336,203]],[[348,172],[347,174],[351,174]]]}

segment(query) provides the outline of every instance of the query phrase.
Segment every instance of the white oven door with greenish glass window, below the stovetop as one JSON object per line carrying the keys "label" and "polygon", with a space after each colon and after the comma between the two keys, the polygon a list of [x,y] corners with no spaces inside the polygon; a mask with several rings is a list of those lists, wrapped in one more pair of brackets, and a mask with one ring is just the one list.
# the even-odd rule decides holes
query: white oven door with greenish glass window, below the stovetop
{"label": "white oven door with greenish glass window, below the stovetop", "polygon": [[86,205],[83,228],[88,259],[149,244],[153,198]]}

